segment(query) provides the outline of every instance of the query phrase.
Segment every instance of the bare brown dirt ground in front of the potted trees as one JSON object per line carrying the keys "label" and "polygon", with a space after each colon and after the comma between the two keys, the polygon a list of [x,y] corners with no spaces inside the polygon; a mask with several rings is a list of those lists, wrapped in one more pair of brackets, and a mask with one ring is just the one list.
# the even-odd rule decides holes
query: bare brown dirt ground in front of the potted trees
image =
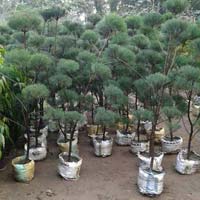
{"label": "bare brown dirt ground in front of the potted trees", "polygon": [[[179,134],[183,134],[180,131]],[[137,190],[138,160],[129,147],[114,145],[113,155],[94,156],[86,133],[80,134],[80,155],[83,158],[80,179],[65,181],[57,174],[56,136],[49,138],[49,153],[44,161],[36,163],[35,178],[29,183],[13,180],[9,164],[0,172],[0,200],[146,200],[154,199]],[[194,146],[200,151],[200,141]],[[156,200],[199,200],[200,173],[179,175],[174,170],[175,155],[165,155],[164,192]]]}

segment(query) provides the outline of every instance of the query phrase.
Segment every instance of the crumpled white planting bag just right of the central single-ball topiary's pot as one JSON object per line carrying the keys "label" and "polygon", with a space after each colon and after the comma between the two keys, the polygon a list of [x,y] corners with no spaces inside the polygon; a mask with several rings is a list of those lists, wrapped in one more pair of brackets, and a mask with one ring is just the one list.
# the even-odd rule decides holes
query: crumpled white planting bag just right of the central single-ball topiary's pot
{"label": "crumpled white planting bag just right of the central single-ball topiary's pot", "polygon": [[135,133],[131,134],[123,134],[119,130],[117,130],[115,142],[118,145],[127,146],[131,144],[132,139],[135,137]]}

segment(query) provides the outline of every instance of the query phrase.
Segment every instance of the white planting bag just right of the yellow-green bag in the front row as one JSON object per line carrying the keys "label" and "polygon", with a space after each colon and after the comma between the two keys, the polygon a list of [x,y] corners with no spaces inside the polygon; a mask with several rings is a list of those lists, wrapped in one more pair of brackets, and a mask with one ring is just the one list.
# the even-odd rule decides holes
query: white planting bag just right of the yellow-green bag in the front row
{"label": "white planting bag just right of the yellow-green bag in the front row", "polygon": [[68,153],[63,152],[59,154],[58,173],[65,180],[77,180],[80,176],[82,158],[76,154],[72,154],[72,157],[77,158],[78,162],[67,162],[64,160],[63,156],[68,156]]}

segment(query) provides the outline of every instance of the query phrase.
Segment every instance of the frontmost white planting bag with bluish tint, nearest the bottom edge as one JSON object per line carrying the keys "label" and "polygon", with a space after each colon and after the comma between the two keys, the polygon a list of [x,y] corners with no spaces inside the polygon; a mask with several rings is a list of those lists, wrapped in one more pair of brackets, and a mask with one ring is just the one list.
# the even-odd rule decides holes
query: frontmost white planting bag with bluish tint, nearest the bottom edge
{"label": "frontmost white planting bag with bluish tint, nearest the bottom edge", "polygon": [[163,191],[165,172],[151,171],[149,168],[139,168],[138,188],[140,193],[154,196],[159,195]]}

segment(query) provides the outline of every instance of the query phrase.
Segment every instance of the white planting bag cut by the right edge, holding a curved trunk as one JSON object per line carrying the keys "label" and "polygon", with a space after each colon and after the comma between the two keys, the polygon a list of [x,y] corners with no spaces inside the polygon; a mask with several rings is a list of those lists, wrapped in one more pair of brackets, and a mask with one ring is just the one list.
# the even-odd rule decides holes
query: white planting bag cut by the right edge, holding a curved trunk
{"label": "white planting bag cut by the right edge, holding a curved trunk", "polygon": [[181,174],[193,174],[200,170],[200,156],[196,154],[199,160],[187,160],[185,158],[186,154],[186,149],[182,149],[178,153],[176,157],[176,170]]}

